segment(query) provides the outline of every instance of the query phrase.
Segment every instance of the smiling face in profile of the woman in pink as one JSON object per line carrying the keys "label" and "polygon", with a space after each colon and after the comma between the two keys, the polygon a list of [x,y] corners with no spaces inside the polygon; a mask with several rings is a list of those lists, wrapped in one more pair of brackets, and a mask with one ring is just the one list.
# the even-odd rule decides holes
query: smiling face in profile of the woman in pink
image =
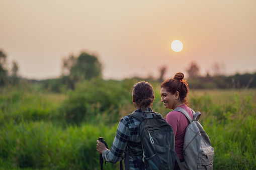
{"label": "smiling face in profile of the woman in pink", "polygon": [[178,105],[179,92],[177,91],[175,94],[167,92],[164,87],[161,88],[160,91],[161,102],[166,109],[175,109]]}

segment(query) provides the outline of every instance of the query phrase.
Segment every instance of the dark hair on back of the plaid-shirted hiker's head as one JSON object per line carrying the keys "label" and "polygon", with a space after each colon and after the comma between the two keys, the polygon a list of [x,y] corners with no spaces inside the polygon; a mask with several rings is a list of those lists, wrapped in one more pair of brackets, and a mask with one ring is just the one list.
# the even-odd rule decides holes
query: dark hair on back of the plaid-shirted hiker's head
{"label": "dark hair on back of the plaid-shirted hiker's head", "polygon": [[140,81],[134,84],[132,88],[132,94],[136,104],[140,108],[150,107],[154,101],[153,87],[150,83],[145,81]]}

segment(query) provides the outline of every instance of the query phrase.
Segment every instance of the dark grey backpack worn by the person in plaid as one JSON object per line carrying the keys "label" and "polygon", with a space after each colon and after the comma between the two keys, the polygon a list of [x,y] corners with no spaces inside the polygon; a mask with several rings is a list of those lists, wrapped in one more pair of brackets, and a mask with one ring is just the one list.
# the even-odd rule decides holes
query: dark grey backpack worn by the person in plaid
{"label": "dark grey backpack worn by the person in plaid", "polygon": [[[173,169],[176,152],[175,136],[172,126],[159,113],[154,113],[153,118],[148,118],[145,114],[147,113],[134,112],[128,115],[137,118],[141,122],[139,132],[143,150],[142,161],[144,163],[144,169]],[[129,148],[126,153],[132,154]],[[129,159],[129,156],[126,154],[125,161],[127,159]]]}

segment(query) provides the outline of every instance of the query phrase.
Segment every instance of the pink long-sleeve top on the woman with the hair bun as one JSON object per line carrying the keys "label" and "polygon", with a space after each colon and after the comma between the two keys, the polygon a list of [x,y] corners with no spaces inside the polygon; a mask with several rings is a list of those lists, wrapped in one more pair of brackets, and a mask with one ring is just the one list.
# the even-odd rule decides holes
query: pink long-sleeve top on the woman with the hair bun
{"label": "pink long-sleeve top on the woman with the hair bun", "polygon": [[[192,110],[186,104],[180,105],[178,107],[184,108],[189,113],[189,115],[193,118]],[[185,132],[190,122],[187,119],[187,117],[179,111],[169,112],[166,115],[165,120],[169,123],[170,126],[173,127],[173,130],[174,130],[175,151],[177,152],[178,157],[180,159],[184,159],[183,144],[184,144]]]}

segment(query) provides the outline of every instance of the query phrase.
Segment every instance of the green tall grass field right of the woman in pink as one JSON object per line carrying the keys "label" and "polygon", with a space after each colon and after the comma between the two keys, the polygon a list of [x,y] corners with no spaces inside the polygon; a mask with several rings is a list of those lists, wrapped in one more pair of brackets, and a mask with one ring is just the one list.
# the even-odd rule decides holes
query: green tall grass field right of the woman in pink
{"label": "green tall grass field right of the woman in pink", "polygon": [[256,168],[255,92],[215,90],[191,98],[191,104],[203,113],[201,123],[215,148],[215,169]]}

